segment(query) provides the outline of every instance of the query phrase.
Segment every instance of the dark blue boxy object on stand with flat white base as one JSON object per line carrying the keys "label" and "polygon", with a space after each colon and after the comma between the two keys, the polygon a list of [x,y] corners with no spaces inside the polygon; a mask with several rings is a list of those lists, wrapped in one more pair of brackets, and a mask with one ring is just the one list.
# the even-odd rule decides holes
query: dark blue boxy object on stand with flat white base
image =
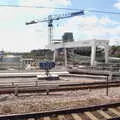
{"label": "dark blue boxy object on stand with flat white base", "polygon": [[55,68],[55,62],[53,61],[43,61],[39,63],[39,68],[44,70],[45,72],[41,72],[40,75],[37,75],[38,79],[45,79],[45,80],[57,80],[59,76],[57,74],[53,74],[50,72],[52,68]]}

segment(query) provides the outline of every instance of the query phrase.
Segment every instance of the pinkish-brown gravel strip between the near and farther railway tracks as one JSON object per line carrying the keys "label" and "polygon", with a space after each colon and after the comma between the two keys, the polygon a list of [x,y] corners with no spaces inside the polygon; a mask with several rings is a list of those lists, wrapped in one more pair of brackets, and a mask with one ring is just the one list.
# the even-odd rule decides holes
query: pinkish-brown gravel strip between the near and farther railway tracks
{"label": "pinkish-brown gravel strip between the near and farther railway tracks", "polygon": [[120,87],[97,90],[76,90],[66,92],[0,95],[0,114],[43,112],[67,108],[86,107],[120,102]]}

